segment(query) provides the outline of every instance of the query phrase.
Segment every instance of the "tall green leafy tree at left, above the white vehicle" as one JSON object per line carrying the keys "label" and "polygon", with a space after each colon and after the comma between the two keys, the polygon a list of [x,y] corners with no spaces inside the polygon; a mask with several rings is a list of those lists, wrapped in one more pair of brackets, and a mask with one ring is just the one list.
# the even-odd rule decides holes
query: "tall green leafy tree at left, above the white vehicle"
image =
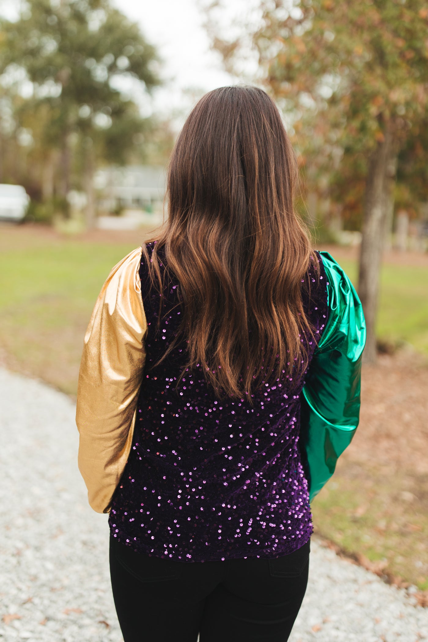
{"label": "tall green leafy tree at left, above the white vehicle", "polygon": [[122,160],[146,128],[137,105],[123,98],[119,81],[126,78],[150,92],[159,82],[155,49],[109,0],[28,0],[18,21],[1,22],[1,40],[4,74],[24,70],[31,83],[19,117],[40,115],[46,163],[58,157],[56,191],[64,198],[72,145],[80,150],[90,224],[96,155]]}

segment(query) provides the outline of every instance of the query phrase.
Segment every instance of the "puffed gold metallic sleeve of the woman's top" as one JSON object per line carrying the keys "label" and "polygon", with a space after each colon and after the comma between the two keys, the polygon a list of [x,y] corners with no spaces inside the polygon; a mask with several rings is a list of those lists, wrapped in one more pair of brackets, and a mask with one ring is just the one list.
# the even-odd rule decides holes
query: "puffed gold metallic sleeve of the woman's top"
{"label": "puffed gold metallic sleeve of the woman's top", "polygon": [[108,275],[85,334],[76,424],[78,465],[90,506],[110,510],[132,444],[135,408],[146,351],[146,315],[141,298],[141,248]]}

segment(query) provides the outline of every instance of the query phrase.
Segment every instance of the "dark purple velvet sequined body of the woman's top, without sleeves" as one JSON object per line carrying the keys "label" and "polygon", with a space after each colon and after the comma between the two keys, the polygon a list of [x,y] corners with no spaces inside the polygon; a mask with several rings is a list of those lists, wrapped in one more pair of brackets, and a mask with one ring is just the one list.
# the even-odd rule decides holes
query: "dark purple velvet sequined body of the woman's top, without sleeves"
{"label": "dark purple velvet sequined body of the woman's top, without sleeves", "polygon": [[[149,253],[153,245],[147,245]],[[304,309],[320,336],[327,288],[309,270]],[[160,269],[164,257],[160,254]],[[146,367],[128,462],[116,489],[109,525],[117,541],[155,557],[203,562],[274,558],[312,534],[309,492],[298,447],[304,376],[266,381],[245,399],[216,399],[201,367],[185,372],[185,342],[155,369],[180,324],[177,284],[169,281],[157,331],[159,295],[141,287],[148,322]],[[306,288],[304,289],[306,292]],[[308,340],[311,360],[316,342]],[[310,367],[310,363],[309,363]]]}

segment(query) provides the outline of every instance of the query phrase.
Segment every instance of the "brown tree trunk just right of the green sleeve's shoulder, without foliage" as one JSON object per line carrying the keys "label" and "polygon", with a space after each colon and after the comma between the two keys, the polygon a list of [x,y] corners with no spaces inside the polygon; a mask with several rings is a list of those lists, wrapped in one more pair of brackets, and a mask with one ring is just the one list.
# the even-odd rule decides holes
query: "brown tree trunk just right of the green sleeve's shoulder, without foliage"
{"label": "brown tree trunk just right of the green sleeve's shoulder, without foliage", "polygon": [[376,317],[379,295],[379,273],[385,238],[385,223],[391,195],[391,157],[394,154],[393,137],[386,130],[384,140],[370,157],[366,180],[363,238],[359,263],[358,293],[366,317],[367,340],[363,360],[376,361]]}

